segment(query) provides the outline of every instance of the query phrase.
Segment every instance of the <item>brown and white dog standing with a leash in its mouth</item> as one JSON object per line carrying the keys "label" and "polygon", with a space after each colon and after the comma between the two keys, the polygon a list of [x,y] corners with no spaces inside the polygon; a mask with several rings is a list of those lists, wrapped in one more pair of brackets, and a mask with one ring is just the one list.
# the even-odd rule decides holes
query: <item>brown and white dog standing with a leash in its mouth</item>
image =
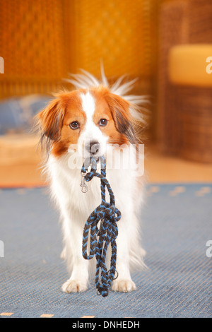
{"label": "brown and white dog standing with a leash in its mouth", "polygon": [[[123,155],[131,149],[136,155],[144,97],[126,94],[135,80],[123,83],[122,77],[110,86],[104,72],[101,81],[83,71],[73,75],[69,82],[75,90],[54,95],[54,100],[37,114],[36,121],[40,142],[47,152],[44,169],[52,200],[61,215],[64,244],[61,257],[70,275],[61,290],[83,292],[88,289],[94,268],[94,259],[88,261],[82,256],[83,227],[101,199],[99,179],[87,184],[86,194],[81,191],[83,160],[105,155],[108,165],[114,151]],[[130,159],[127,167],[107,167],[107,179],[122,213],[117,223],[118,278],[112,283],[112,290],[118,292],[136,290],[131,270],[145,267],[139,218],[145,180],[135,176],[135,161]]]}

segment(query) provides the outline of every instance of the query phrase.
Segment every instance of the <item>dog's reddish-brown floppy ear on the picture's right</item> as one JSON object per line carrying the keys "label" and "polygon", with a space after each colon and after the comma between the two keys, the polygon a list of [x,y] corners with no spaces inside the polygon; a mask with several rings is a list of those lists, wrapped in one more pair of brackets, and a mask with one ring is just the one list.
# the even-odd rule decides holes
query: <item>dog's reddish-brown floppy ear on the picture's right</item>
{"label": "dog's reddish-brown floppy ear on the picture's right", "polygon": [[136,134],[129,111],[129,102],[119,95],[114,95],[114,93],[109,93],[106,98],[117,131],[124,134],[130,143],[136,143]]}

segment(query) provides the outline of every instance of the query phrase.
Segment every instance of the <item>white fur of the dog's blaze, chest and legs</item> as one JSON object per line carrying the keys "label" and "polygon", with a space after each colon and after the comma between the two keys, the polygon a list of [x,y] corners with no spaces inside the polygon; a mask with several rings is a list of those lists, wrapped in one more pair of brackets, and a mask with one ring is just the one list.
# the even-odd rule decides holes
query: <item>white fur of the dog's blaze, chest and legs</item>
{"label": "white fur of the dog's blaze, chest and legs", "polygon": [[[88,92],[81,96],[81,105],[87,116],[85,130],[78,140],[78,150],[82,151],[82,146],[88,139],[100,142],[101,153],[105,153],[106,160],[113,153],[112,147],[107,145],[107,137],[102,135],[98,127],[92,121],[95,100],[89,94],[89,87],[100,84],[96,78],[89,73],[86,75],[74,76],[76,88],[86,88]],[[102,82],[107,85],[107,79],[102,77]],[[131,86],[120,85],[121,81],[114,84],[112,92],[126,93]],[[124,96],[126,99],[126,95]],[[133,99],[130,97],[129,99]],[[134,98],[136,105],[141,100]],[[126,148],[127,149],[127,148]],[[71,151],[71,149],[70,149]],[[88,192],[81,191],[81,166],[82,155],[77,155],[75,168],[71,164],[71,152],[55,158],[50,153],[46,170],[51,182],[52,198],[57,203],[61,213],[61,224],[64,239],[64,250],[62,256],[66,259],[70,278],[62,285],[64,292],[81,292],[87,289],[90,276],[90,268],[95,270],[95,261],[86,261],[82,256],[82,235],[83,227],[90,213],[100,204],[100,182],[93,178],[88,182]],[[136,160],[136,159],[135,159]],[[143,193],[138,191],[138,179],[134,177],[131,163],[127,169],[108,169],[107,179],[112,186],[116,199],[116,206],[122,212],[122,218],[118,223],[119,235],[117,237],[117,271],[119,277],[114,280],[112,290],[128,292],[136,289],[136,285],[131,280],[131,268],[143,267],[143,255],[145,251],[141,248],[139,213]],[[107,196],[108,199],[108,196]],[[110,254],[110,253],[109,253]]]}

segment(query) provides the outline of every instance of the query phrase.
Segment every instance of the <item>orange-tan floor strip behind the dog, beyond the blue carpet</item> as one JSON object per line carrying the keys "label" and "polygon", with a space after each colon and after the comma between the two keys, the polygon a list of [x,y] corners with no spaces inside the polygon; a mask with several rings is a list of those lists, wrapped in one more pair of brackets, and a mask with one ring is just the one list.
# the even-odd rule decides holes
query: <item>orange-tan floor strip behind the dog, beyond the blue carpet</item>
{"label": "orange-tan floor strip behind the dog, beyond the blue carpet", "polygon": [[[44,186],[40,155],[35,150],[33,138],[24,149],[20,138],[15,140],[16,143],[14,138],[11,141],[13,149],[7,146],[6,153],[2,152],[0,141],[0,187]],[[165,156],[152,144],[145,147],[145,171],[151,183],[212,182],[212,164]]]}

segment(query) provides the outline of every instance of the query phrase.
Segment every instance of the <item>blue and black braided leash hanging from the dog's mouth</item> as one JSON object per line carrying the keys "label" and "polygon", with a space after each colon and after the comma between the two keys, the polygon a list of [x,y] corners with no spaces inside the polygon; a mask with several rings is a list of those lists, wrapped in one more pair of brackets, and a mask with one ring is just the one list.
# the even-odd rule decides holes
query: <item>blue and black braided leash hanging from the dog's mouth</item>
{"label": "blue and black braided leash hanging from the dog's mouth", "polygon": [[[106,179],[106,163],[105,157],[100,157],[101,173],[97,172],[97,160],[95,158],[89,158],[85,160],[83,167],[81,168],[82,191],[88,191],[88,186],[85,184],[89,182],[93,177],[100,178],[101,197],[102,202],[90,213],[86,225],[83,230],[83,257],[84,259],[96,258],[96,273],[95,273],[95,285],[98,295],[106,297],[109,292],[109,288],[112,285],[116,271],[117,261],[117,244],[116,238],[118,235],[117,221],[121,218],[121,212],[115,207],[114,194],[109,182]],[[86,167],[87,165],[88,167]],[[88,168],[90,167],[90,172]],[[110,195],[110,203],[105,201],[105,193],[107,191]],[[98,223],[100,221],[100,227]],[[90,253],[88,254],[88,238],[90,231]],[[106,267],[106,255],[107,248],[111,244],[111,259],[110,270],[107,271]]]}

